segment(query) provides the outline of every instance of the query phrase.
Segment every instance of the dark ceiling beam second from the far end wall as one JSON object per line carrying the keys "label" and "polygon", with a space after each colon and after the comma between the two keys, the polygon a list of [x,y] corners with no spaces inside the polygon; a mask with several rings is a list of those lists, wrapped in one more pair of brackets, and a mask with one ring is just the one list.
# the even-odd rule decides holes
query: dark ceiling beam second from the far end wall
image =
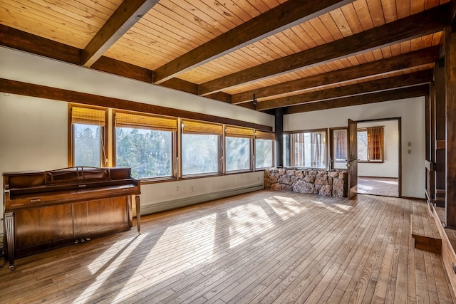
{"label": "dark ceiling beam second from the far end wall", "polygon": [[415,73],[366,81],[365,83],[356,83],[354,85],[345,85],[339,88],[318,90],[315,92],[292,95],[284,98],[265,100],[257,104],[257,110],[283,108],[290,105],[311,103],[333,98],[356,96],[364,93],[391,90],[394,88],[405,88],[412,85],[422,85],[425,83],[430,83],[432,81],[432,77],[432,69],[421,70]]}

